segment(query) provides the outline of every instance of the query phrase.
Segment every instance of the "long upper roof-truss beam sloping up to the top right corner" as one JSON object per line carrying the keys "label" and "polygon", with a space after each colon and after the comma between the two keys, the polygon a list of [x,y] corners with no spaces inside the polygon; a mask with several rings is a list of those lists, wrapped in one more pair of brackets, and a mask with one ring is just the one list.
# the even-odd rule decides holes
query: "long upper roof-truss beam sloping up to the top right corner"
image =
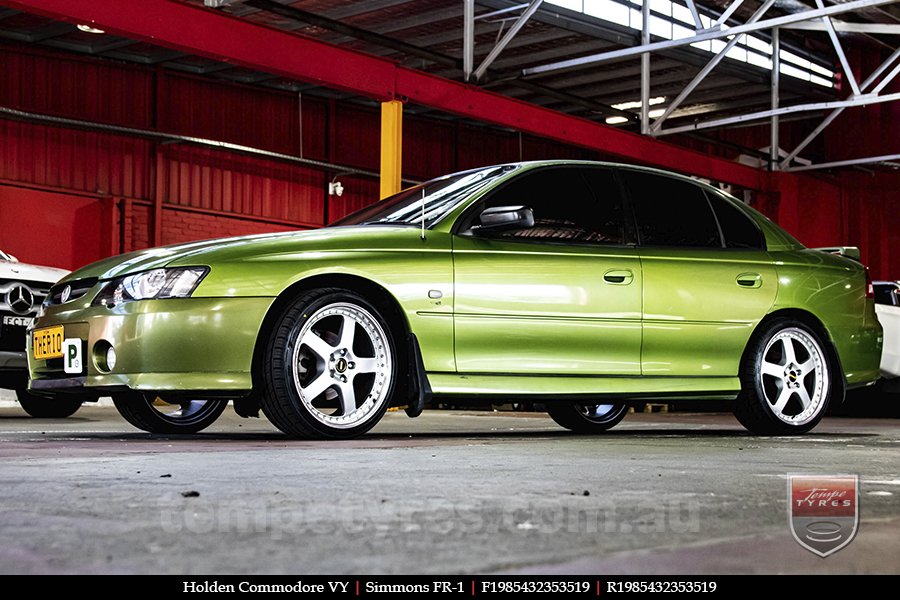
{"label": "long upper roof-truss beam sloping up to the top right corner", "polygon": [[527,69],[522,70],[522,75],[539,75],[542,73],[551,73],[553,71],[559,71],[561,69],[570,69],[573,67],[582,67],[585,65],[597,64],[601,63],[613,58],[620,58],[623,56],[637,56],[644,52],[657,52],[659,50],[666,50],[671,48],[681,48],[684,46],[690,46],[696,42],[705,42],[708,40],[717,40],[724,37],[729,36],[739,36],[743,33],[752,33],[755,31],[761,31],[764,29],[771,29],[773,27],[781,27],[782,25],[788,25],[790,23],[799,23],[801,21],[808,21],[809,19],[817,19],[821,17],[828,17],[831,15],[839,15],[847,12],[851,12],[854,10],[859,10],[860,8],[866,8],[871,6],[881,6],[884,4],[891,4],[896,2],[896,0],[851,0],[850,2],[846,2],[843,4],[837,4],[835,6],[829,6],[827,8],[817,8],[811,9],[807,11],[802,11],[799,13],[794,13],[790,15],[784,15],[781,17],[775,17],[772,19],[766,19],[764,21],[757,21],[756,23],[748,23],[745,25],[737,25],[735,27],[729,27],[725,30],[704,30],[697,35],[679,38],[677,40],[664,40],[661,42],[653,42],[651,44],[632,46],[630,48],[622,48],[621,50],[613,50],[611,52],[602,52],[600,54],[594,54],[593,56],[582,56],[580,58],[572,58],[569,60],[562,60],[555,63],[550,63],[547,65],[541,65],[539,67],[529,67]]}

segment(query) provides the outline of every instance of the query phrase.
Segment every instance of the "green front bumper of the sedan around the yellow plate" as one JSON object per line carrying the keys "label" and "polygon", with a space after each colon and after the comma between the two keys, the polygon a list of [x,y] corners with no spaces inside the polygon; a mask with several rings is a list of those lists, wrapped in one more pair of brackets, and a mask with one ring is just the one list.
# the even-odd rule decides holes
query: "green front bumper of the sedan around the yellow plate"
{"label": "green front bumper of the sedan around the yellow plate", "polygon": [[[92,296],[88,296],[92,297]],[[36,392],[114,393],[252,389],[251,363],[260,326],[274,298],[141,300],[113,308],[84,303],[51,306],[35,328],[62,325],[82,341],[83,370],[65,373],[62,359],[38,360],[32,336],[26,353]],[[105,370],[107,344],[116,364]]]}

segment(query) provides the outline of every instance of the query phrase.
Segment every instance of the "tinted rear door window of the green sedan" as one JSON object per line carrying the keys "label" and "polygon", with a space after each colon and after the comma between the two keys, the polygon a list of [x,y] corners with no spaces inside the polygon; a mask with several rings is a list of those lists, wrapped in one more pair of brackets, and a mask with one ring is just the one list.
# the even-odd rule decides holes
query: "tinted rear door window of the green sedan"
{"label": "tinted rear door window of the green sedan", "polygon": [[706,194],[688,182],[623,170],[644,246],[721,247]]}

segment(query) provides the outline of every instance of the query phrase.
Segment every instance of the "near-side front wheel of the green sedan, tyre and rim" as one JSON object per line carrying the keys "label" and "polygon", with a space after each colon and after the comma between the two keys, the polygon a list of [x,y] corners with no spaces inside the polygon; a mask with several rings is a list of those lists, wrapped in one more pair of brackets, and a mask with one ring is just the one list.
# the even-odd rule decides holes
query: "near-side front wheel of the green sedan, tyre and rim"
{"label": "near-side front wheel of the green sedan, tyre and rim", "polygon": [[263,361],[263,412],[288,435],[346,439],[384,416],[401,361],[388,322],[341,289],[307,292],[285,311]]}

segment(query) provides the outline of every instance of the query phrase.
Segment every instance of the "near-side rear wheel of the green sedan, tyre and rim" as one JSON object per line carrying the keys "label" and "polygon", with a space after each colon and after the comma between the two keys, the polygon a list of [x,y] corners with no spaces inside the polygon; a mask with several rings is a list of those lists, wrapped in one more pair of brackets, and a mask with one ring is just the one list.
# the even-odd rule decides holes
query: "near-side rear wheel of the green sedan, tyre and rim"
{"label": "near-side rear wheel of the green sedan, tyre and rim", "polygon": [[734,415],[758,435],[805,433],[825,415],[834,376],[818,333],[799,321],[774,320],[744,355]]}

